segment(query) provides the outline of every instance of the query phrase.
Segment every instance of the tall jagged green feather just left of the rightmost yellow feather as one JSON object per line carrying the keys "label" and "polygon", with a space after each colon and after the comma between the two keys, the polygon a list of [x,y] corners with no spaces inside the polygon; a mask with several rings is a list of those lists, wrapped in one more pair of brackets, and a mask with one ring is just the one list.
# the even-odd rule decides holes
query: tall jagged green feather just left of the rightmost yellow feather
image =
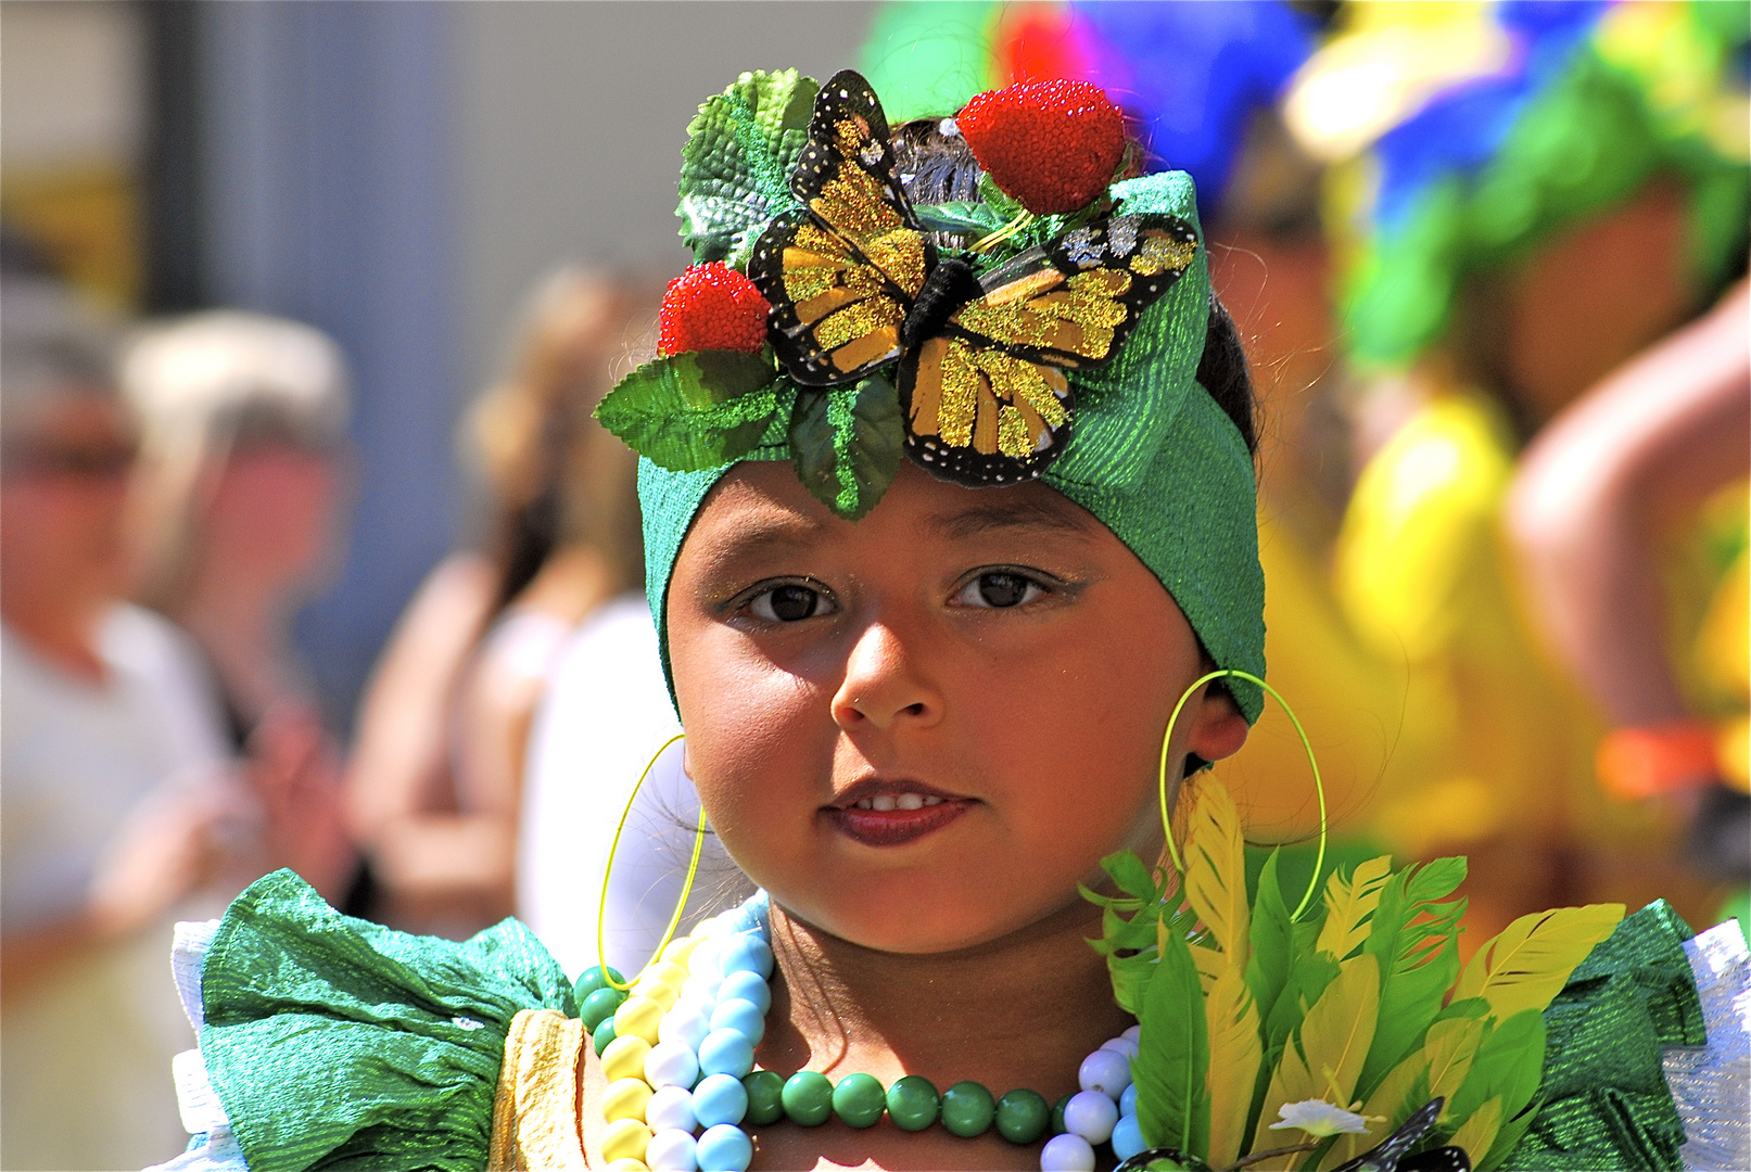
{"label": "tall jagged green feather just left of the rightmost yellow feather", "polygon": [[1357,1092],[1366,1099],[1434,1022],[1459,978],[1459,917],[1464,899],[1438,903],[1466,878],[1464,859],[1406,866],[1380,892],[1366,955],[1380,959],[1380,1029]]}

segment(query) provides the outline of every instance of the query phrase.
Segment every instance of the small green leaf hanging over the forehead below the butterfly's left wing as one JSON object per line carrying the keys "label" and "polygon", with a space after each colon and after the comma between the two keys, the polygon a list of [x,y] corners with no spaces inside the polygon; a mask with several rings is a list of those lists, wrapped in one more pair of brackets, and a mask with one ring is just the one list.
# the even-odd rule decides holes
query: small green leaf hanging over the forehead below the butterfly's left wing
{"label": "small green leaf hanging over the forehead below the butterfly's left wing", "polygon": [[900,395],[872,374],[851,387],[802,390],[790,416],[797,479],[847,521],[876,507],[900,471]]}

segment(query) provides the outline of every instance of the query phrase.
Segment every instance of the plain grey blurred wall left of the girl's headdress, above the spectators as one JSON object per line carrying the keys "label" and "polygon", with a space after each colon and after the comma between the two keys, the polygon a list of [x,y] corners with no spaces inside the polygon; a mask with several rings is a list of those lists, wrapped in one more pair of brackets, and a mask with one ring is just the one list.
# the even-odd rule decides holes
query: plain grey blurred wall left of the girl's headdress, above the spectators
{"label": "plain grey blurred wall left of the girl's headdress, above the spectators", "polygon": [[469,3],[457,52],[461,301],[471,385],[559,259],[672,276],[699,103],[742,70],[854,66],[874,3]]}

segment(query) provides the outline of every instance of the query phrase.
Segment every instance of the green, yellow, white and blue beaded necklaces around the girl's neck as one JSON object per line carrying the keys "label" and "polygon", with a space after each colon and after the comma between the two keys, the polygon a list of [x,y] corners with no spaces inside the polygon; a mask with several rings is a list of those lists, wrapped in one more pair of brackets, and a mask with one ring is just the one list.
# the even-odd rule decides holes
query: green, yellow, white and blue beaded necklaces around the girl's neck
{"label": "green, yellow, white and blue beaded necklaces around the girl's neck", "polygon": [[872,1074],[832,1083],[818,1071],[790,1078],[755,1069],[772,1008],[770,903],[748,903],[671,941],[623,994],[618,973],[585,969],[576,992],[590,1044],[602,1060],[602,1155],[616,1172],[746,1172],[755,1148],[748,1127],[790,1120],[818,1127],[839,1116],[874,1127],[884,1114],[904,1132],[942,1123],[972,1139],[993,1127],[1014,1144],[1051,1135],[1042,1172],[1093,1172],[1100,1144],[1126,1160],[1147,1144],[1136,1123],[1131,1058],[1138,1027],[1082,1060],[1082,1090],[1047,1107],[1031,1090],[1002,1099],[979,1083],[946,1092],[916,1074],[883,1088]]}

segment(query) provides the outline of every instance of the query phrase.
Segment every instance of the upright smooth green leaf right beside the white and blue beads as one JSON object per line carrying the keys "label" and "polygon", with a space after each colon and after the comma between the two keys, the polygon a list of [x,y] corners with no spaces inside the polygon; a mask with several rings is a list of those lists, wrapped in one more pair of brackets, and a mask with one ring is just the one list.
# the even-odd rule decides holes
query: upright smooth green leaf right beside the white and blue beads
{"label": "upright smooth green leaf right beside the white and blue beads", "polygon": [[1136,1123],[1150,1148],[1205,1151],[1210,1144],[1210,1043],[1191,948],[1168,932],[1143,994],[1142,1036],[1131,1060]]}

